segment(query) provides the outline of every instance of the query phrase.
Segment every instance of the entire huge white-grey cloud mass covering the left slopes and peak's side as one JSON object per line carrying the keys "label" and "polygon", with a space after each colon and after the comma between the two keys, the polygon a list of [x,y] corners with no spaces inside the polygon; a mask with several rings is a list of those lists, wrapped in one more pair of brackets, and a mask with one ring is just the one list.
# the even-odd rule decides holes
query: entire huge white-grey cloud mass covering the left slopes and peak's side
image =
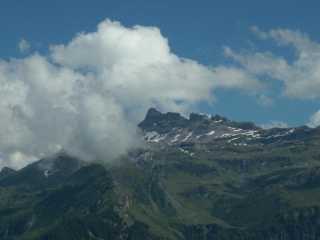
{"label": "entire huge white-grey cloud mass covering the left slopes and peak's side", "polygon": [[178,57],[156,27],[106,19],[50,46],[48,56],[0,61],[0,167],[18,168],[60,147],[112,159],[136,144],[148,107],[186,113],[212,103],[215,87],[254,93],[263,86],[242,68]]}

